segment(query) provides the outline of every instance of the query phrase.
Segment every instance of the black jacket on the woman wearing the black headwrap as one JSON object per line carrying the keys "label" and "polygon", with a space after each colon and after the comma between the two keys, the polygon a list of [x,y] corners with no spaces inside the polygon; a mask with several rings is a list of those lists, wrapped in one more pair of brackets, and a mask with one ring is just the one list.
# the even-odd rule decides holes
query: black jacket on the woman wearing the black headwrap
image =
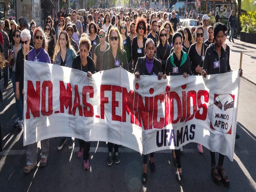
{"label": "black jacket on the woman wearing the black headwrap", "polygon": [[217,51],[215,50],[216,43],[210,44],[210,46],[206,49],[203,69],[207,69],[208,74],[219,74],[226,73],[228,71],[228,53],[221,47],[221,55],[220,55],[220,67],[214,68],[215,61],[219,61],[219,56]]}

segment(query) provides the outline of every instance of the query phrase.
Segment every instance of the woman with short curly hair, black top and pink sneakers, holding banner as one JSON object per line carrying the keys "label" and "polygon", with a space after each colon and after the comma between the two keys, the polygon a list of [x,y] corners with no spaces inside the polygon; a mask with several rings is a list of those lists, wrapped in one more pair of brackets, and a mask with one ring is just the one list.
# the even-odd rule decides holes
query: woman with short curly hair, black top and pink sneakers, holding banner
{"label": "woman with short curly hair, black top and pink sneakers, holding banner", "polygon": [[[89,50],[91,49],[92,45],[90,39],[86,37],[81,37],[79,41],[79,52],[80,55],[77,55],[72,63],[73,69],[78,69],[80,71],[84,71],[87,73],[87,77],[92,77],[92,74],[96,72],[96,68],[94,62],[91,57],[89,57]],[[79,141],[79,151],[78,157],[81,158],[82,155],[84,156],[84,170],[89,169],[89,151],[91,143],[90,141]]]}

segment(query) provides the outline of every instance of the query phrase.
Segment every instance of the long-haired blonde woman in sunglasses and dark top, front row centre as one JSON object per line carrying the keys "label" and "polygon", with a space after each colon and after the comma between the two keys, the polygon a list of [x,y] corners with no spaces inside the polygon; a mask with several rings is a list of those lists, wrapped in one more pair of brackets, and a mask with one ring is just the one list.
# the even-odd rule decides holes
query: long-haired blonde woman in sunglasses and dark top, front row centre
{"label": "long-haired blonde woman in sunglasses and dark top, front row centre", "polygon": [[[101,70],[108,70],[112,68],[122,67],[128,71],[127,65],[127,57],[126,52],[123,49],[123,42],[122,36],[120,35],[118,29],[114,26],[109,31],[109,48],[103,53],[102,66]],[[108,166],[111,166],[112,156],[113,156],[113,146],[114,146],[114,153],[115,153],[115,163],[120,163],[120,157],[118,153],[118,145],[108,142]]]}

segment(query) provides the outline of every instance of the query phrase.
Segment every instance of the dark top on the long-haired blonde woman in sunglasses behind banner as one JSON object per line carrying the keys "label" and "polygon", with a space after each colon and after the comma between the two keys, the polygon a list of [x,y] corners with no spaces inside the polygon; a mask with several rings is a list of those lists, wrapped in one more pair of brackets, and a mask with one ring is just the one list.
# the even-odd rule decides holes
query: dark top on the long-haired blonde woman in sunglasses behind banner
{"label": "dark top on the long-haired blonde woman in sunglasses behind banner", "polygon": [[[120,66],[128,71],[128,64],[126,58],[126,52],[124,49],[117,50],[116,60],[120,61]],[[101,70],[108,70],[116,68],[115,59],[112,54],[111,47],[103,53]]]}

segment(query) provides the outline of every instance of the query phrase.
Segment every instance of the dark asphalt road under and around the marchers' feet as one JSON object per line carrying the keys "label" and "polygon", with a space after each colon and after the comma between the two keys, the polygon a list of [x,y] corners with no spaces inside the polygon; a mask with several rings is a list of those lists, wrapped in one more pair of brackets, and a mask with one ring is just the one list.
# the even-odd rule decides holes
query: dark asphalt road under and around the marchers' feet
{"label": "dark asphalt road under and around the marchers' feet", "polygon": [[[176,181],[172,156],[164,151],[155,154],[156,172],[151,173],[148,167],[148,183],[143,185],[141,155],[121,148],[120,164],[108,167],[105,142],[91,144],[90,169],[84,171],[82,159],[77,158],[77,140],[74,150],[69,150],[65,144],[58,151],[60,139],[52,138],[47,166],[28,175],[22,173],[26,165],[26,147],[23,147],[23,130],[13,127],[17,117],[14,94],[9,85],[0,106],[4,146],[0,153],[0,191],[256,191],[255,95],[256,86],[241,79],[237,116],[240,139],[236,140],[234,161],[228,157],[224,161],[231,180],[230,188],[213,183],[210,152],[204,148],[204,154],[199,154],[195,143],[186,145],[181,156],[184,178],[181,185]],[[39,152],[37,160],[40,160]]]}

